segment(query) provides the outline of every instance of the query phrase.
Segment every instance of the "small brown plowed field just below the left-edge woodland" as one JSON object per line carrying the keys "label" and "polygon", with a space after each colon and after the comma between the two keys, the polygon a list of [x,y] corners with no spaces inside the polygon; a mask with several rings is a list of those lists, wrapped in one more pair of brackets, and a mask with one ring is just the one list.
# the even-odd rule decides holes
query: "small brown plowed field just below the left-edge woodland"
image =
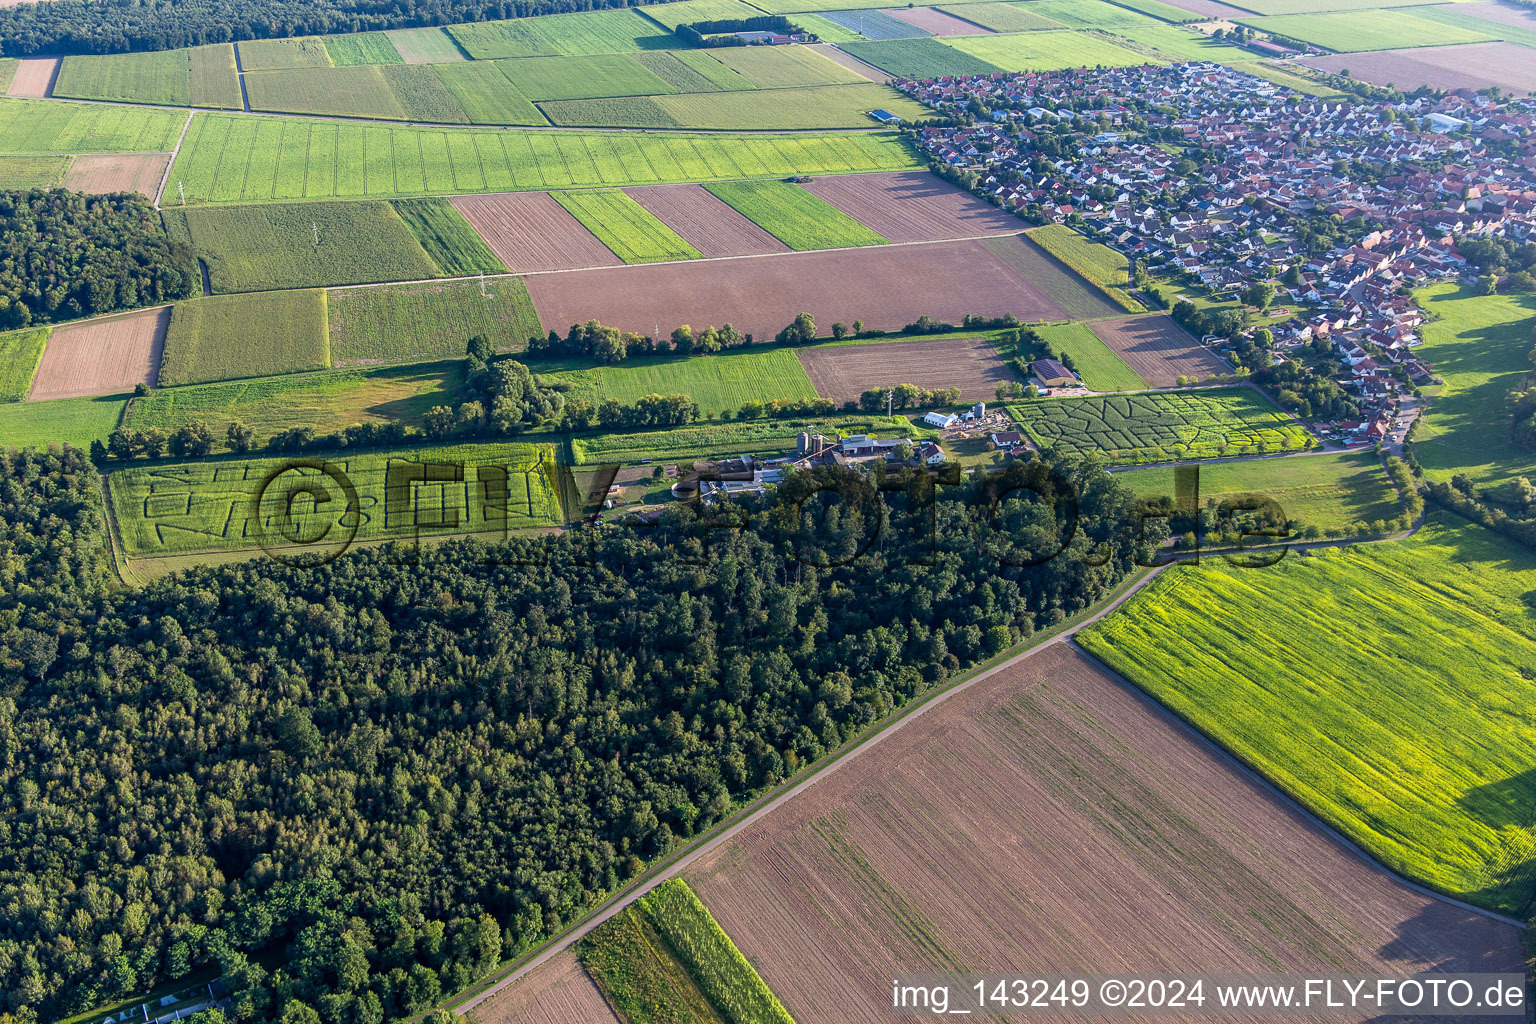
{"label": "small brown plowed field just below the left-edge woodland", "polygon": [[26,401],[121,395],[154,384],[170,307],[55,327]]}

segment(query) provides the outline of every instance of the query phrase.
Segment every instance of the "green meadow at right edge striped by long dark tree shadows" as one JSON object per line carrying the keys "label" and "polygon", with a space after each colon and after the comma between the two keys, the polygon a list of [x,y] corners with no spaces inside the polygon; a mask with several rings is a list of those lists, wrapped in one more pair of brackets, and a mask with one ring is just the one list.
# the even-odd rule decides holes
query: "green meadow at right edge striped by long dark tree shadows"
{"label": "green meadow at right edge striped by long dark tree shadows", "polygon": [[1484,485],[1536,477],[1536,453],[1510,438],[1508,407],[1510,391],[1531,372],[1536,296],[1479,296],[1436,284],[1415,299],[1438,318],[1421,329],[1415,355],[1445,381],[1413,434],[1424,473],[1433,481],[1465,473]]}

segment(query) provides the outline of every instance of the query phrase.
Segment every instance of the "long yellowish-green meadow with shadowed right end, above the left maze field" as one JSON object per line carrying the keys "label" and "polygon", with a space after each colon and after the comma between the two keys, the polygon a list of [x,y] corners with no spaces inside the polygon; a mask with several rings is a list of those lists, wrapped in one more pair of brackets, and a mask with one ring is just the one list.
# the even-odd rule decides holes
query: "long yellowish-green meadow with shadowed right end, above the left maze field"
{"label": "long yellowish-green meadow with shadowed right end, above the left maze field", "polygon": [[458,404],[462,385],[464,361],[452,359],[161,387],[129,399],[123,422],[138,430],[175,430],[201,421],[221,444],[235,421],[255,431],[257,444],[292,427],[312,427],[319,434],[352,424],[419,427],[421,416],[433,405]]}

